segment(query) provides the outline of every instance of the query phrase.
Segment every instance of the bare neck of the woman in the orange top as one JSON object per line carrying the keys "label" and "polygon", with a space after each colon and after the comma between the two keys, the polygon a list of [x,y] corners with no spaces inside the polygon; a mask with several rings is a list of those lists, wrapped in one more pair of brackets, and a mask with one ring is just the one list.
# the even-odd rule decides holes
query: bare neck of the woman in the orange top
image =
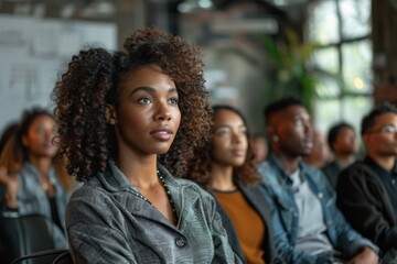
{"label": "bare neck of the woman in the orange top", "polygon": [[222,191],[235,190],[233,166],[211,165],[211,188]]}

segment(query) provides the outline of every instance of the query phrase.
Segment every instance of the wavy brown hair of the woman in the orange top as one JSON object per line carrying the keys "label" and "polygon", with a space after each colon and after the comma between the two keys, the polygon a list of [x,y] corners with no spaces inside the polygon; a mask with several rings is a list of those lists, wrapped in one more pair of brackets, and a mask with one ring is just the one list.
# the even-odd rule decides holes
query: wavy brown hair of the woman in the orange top
{"label": "wavy brown hair of the woman in the orange top", "polygon": [[[247,121],[243,113],[227,105],[218,105],[213,106],[213,119],[216,113],[221,110],[228,110],[236,114],[238,114],[244,124],[248,128]],[[249,139],[249,130],[247,129],[247,140]],[[191,161],[189,166],[189,172],[186,177],[198,185],[201,185],[204,189],[211,189],[211,163],[213,157],[211,156],[212,152],[212,138],[206,141],[205,146],[203,148],[197,148],[195,152],[195,158]],[[253,185],[259,182],[259,174],[254,163],[254,153],[248,142],[248,152],[246,156],[246,161],[240,167],[234,168],[234,177],[243,185]]]}

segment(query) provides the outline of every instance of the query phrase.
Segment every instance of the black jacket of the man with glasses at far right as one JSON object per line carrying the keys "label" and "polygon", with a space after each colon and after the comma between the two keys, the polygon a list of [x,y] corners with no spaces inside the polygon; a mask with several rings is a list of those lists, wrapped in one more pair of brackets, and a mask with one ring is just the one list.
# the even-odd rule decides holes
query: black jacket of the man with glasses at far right
{"label": "black jacket of the man with glasses at far right", "polygon": [[365,162],[341,173],[337,206],[350,223],[387,252],[397,249],[397,219],[384,184]]}

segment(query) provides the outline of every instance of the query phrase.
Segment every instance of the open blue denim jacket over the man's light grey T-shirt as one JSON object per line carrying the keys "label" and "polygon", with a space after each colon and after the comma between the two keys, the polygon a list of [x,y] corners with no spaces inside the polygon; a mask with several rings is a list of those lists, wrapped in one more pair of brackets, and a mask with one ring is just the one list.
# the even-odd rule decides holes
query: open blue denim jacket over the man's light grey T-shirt
{"label": "open blue denim jacket over the man's light grey T-shirt", "polygon": [[[344,254],[345,258],[354,256],[363,246],[378,252],[376,245],[354,231],[346,222],[335,205],[335,193],[328,179],[319,169],[301,162],[301,177],[308,180],[310,189],[319,198],[326,226],[326,235],[334,250]],[[315,263],[316,256],[296,250],[299,211],[294,202],[292,180],[283,170],[281,163],[272,154],[259,164],[262,187],[271,206],[276,250],[287,263]]]}

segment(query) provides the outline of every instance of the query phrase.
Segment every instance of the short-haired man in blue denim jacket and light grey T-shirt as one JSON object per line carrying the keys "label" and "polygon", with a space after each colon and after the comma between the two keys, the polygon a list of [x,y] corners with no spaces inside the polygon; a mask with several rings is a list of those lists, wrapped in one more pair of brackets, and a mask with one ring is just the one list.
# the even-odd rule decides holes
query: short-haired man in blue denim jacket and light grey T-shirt
{"label": "short-haired man in blue denim jacket and light grey T-shirt", "polygon": [[266,107],[271,152],[259,165],[276,250],[287,263],[378,262],[377,246],[354,231],[334,202],[321,170],[301,162],[313,147],[310,116],[296,98]]}

